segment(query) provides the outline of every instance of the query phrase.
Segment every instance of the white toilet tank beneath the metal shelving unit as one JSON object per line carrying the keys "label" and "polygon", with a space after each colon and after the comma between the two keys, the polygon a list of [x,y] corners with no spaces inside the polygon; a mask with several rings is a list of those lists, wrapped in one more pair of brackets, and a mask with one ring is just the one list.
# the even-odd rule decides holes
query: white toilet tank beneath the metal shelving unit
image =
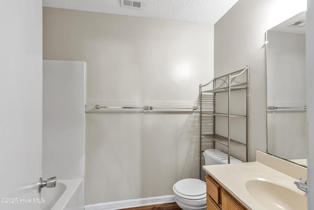
{"label": "white toilet tank beneath the metal shelving unit", "polygon": [[[205,150],[203,155],[205,157],[205,165],[228,163],[228,154],[217,149]],[[230,156],[230,163],[242,163],[242,161],[234,158],[233,156]]]}

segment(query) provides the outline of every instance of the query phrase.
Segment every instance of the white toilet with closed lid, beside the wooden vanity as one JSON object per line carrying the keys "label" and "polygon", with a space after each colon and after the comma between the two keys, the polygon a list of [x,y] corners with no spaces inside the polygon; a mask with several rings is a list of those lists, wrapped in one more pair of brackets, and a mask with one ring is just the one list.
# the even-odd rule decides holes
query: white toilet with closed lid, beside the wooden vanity
{"label": "white toilet with closed lid, beside the wooden vanity", "polygon": [[[227,164],[228,155],[220,150],[204,151],[205,165]],[[230,156],[230,163],[242,161]],[[178,206],[183,210],[206,210],[206,183],[198,179],[177,181],[173,187],[173,195]]]}

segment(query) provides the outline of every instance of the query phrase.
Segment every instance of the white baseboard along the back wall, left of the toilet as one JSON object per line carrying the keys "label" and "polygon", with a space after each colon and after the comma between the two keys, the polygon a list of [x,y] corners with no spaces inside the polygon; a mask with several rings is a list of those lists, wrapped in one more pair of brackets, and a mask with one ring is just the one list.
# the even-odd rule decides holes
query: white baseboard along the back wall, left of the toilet
{"label": "white baseboard along the back wall, left of the toilet", "polygon": [[173,195],[164,195],[149,198],[130,199],[123,201],[112,201],[99,204],[86,205],[85,210],[119,210],[135,207],[145,207],[157,204],[175,203]]}

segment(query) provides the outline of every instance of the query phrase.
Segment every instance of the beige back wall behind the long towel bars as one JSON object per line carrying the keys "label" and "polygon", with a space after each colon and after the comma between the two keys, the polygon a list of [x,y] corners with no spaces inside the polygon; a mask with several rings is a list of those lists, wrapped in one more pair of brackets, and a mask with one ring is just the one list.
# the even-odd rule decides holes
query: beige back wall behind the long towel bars
{"label": "beige back wall behind the long towel bars", "polygon": [[[43,56],[87,63],[87,104],[192,106],[213,25],[44,8]],[[85,204],[172,194],[199,176],[198,114],[87,113]]]}

